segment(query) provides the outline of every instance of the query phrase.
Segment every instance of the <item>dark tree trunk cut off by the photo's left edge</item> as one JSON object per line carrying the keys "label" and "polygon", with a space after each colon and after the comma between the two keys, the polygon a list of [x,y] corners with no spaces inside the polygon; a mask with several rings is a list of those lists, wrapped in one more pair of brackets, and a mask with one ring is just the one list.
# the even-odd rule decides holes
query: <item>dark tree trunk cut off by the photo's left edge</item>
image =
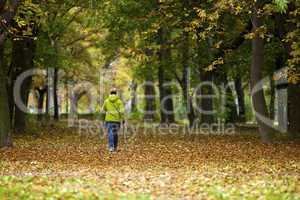
{"label": "dark tree trunk cut off by the photo's left edge", "polygon": [[7,98],[6,76],[3,65],[3,46],[0,46],[0,148],[9,147],[11,142],[11,126],[9,104]]}

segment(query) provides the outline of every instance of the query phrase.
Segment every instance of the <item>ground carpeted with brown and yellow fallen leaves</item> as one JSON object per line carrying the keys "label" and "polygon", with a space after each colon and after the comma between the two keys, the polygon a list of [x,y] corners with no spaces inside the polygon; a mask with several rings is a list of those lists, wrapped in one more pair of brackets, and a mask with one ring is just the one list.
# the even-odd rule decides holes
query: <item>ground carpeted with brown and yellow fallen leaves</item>
{"label": "ground carpeted with brown and yellow fallen leaves", "polygon": [[97,137],[44,132],[0,150],[0,199],[300,199],[296,142],[152,135],[109,154]]}

